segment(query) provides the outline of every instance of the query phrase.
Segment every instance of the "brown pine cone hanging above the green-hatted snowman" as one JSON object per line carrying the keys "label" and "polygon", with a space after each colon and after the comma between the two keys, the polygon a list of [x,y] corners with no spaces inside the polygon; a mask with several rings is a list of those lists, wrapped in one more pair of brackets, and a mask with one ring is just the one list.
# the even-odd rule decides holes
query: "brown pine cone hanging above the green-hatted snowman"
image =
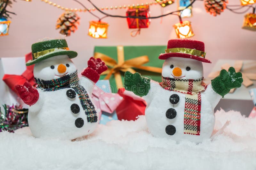
{"label": "brown pine cone hanging above the green-hatted snowman", "polygon": [[75,32],[77,30],[79,19],[80,17],[76,12],[65,11],[57,20],[56,29],[60,29],[61,34],[70,36],[71,32]]}

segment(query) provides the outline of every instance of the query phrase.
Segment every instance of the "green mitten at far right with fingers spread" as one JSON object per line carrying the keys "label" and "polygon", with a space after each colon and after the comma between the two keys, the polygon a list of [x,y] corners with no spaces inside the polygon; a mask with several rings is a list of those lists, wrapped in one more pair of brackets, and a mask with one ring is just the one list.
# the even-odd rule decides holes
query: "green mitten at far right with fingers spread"
{"label": "green mitten at far right with fingers spread", "polygon": [[242,73],[236,73],[234,67],[229,67],[228,71],[221,70],[220,75],[212,80],[212,89],[224,97],[230,89],[241,87],[242,82]]}

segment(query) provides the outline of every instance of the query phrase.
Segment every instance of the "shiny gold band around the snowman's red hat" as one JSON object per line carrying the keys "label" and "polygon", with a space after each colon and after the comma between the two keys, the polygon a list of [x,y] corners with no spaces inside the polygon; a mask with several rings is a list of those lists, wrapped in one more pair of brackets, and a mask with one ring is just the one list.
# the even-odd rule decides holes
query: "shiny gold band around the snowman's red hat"
{"label": "shiny gold band around the snowman's red hat", "polygon": [[196,55],[197,57],[205,58],[205,52],[190,48],[168,48],[165,53],[184,53],[190,55]]}

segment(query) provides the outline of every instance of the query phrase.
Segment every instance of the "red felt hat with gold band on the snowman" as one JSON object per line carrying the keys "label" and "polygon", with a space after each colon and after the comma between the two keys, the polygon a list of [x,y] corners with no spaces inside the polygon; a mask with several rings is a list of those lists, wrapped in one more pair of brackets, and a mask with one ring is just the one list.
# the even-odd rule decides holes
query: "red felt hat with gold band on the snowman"
{"label": "red felt hat with gold band on the snowman", "polygon": [[212,63],[210,60],[205,59],[204,43],[190,39],[169,40],[165,53],[158,58],[166,60],[169,57],[182,57]]}

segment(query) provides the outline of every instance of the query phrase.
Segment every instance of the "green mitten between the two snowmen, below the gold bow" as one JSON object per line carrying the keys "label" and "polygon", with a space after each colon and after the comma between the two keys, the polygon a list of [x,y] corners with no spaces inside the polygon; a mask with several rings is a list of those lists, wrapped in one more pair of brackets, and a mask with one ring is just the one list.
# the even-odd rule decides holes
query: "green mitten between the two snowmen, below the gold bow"
{"label": "green mitten between the two snowmen, below the gold bow", "polygon": [[124,87],[128,91],[132,91],[137,96],[146,96],[150,89],[150,79],[141,77],[140,73],[132,74],[126,71],[124,74]]}

